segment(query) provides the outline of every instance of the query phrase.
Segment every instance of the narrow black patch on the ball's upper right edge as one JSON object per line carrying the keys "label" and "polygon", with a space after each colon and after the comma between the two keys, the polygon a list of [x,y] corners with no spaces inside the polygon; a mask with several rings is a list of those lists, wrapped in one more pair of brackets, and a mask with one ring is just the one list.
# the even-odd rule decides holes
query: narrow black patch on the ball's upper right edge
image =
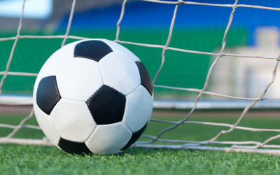
{"label": "narrow black patch on the ball's upper right edge", "polygon": [[142,62],[135,62],[138,66],[140,77],[141,77],[141,85],[143,85],[150,94],[153,94],[153,84],[151,78],[148,74],[148,71]]}

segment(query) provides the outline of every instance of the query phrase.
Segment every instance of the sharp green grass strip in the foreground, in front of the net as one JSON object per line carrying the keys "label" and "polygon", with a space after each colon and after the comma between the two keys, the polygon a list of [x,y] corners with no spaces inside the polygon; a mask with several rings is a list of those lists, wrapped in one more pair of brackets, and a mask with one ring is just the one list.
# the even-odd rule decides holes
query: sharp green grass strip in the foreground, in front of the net
{"label": "sharp green grass strip in the foreground, in front of the net", "polygon": [[0,147],[2,174],[279,174],[279,157],[129,148],[119,155],[67,155],[43,146]]}

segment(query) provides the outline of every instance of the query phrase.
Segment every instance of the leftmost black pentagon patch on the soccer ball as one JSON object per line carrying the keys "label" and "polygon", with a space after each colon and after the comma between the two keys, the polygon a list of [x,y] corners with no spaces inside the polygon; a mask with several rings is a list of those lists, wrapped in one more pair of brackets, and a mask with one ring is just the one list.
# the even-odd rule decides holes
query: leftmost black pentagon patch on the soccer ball
{"label": "leftmost black pentagon patch on the soccer ball", "polygon": [[36,102],[38,107],[46,114],[50,115],[50,112],[55,107],[55,104],[61,99],[57,80],[55,76],[48,76],[40,80],[37,94]]}

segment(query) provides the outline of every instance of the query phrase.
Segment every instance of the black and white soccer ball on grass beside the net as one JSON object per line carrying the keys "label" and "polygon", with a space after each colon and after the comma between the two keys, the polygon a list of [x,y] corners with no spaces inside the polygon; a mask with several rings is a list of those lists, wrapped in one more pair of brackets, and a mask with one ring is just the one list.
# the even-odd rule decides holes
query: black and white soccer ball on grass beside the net
{"label": "black and white soccer ball on grass beside the net", "polygon": [[106,39],[57,50],[38,73],[33,97],[45,136],[75,154],[127,149],[144,132],[153,110],[153,85],[144,64]]}

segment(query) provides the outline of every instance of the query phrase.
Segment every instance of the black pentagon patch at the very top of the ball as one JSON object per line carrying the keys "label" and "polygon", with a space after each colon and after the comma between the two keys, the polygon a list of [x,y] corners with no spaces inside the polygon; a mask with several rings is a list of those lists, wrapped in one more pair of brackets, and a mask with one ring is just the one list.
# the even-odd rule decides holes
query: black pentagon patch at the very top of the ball
{"label": "black pentagon patch at the very top of the ball", "polygon": [[109,52],[113,50],[103,41],[83,41],[75,46],[74,57],[84,57],[99,62]]}

